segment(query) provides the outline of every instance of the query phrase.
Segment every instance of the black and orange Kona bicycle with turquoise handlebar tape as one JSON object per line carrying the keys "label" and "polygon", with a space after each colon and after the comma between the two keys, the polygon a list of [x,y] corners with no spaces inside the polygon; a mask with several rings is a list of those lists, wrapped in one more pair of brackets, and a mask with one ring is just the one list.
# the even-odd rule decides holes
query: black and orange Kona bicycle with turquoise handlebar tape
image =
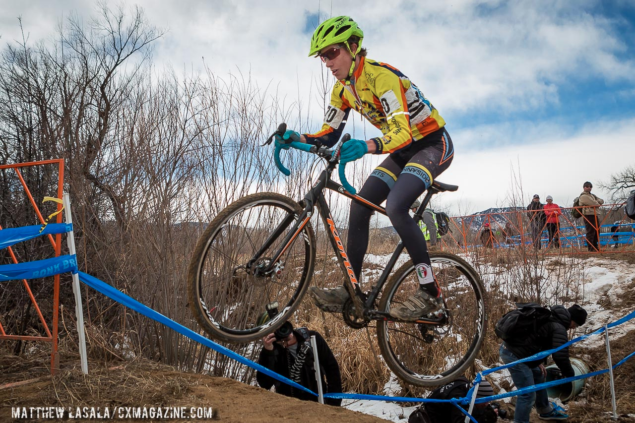
{"label": "black and orange Kona bicycle with turquoise handlebar tape", "polygon": [[[286,125],[281,124],[265,144],[285,130]],[[345,180],[344,166],[340,166],[342,184],[331,180],[339,163],[340,147],[349,138],[344,135],[332,149],[291,143],[295,149],[326,160],[326,168],[299,203],[276,192],[261,192],[238,199],[212,220],[190,261],[190,308],[199,325],[218,340],[244,343],[274,332],[300,305],[311,282],[316,237],[310,221],[317,210],[344,274],[344,286],[351,295],[342,313],[345,323],[363,328],[376,321],[384,360],[401,379],[417,386],[445,384],[471,365],[485,339],[483,282],[463,258],[447,252],[431,253],[432,269],[443,294],[443,309],[417,321],[392,318],[391,306],[406,300],[418,287],[411,260],[394,269],[404,250],[399,241],[375,286],[370,292],[361,290],[324,190],[335,191],[384,215],[385,209],[351,193],[354,189]],[[288,175],[279,153],[277,147],[276,165]],[[435,181],[414,218],[422,219],[434,194],[457,189]],[[265,305],[272,302],[279,304],[279,312],[263,323],[258,318]]]}

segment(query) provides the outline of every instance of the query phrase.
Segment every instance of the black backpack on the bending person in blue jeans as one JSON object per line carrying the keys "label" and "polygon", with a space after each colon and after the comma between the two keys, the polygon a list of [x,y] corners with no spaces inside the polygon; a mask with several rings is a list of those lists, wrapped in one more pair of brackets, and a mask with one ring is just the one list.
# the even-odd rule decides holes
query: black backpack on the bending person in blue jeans
{"label": "black backpack on the bending person in blue jeans", "polygon": [[496,322],[494,333],[509,344],[522,344],[551,318],[551,310],[537,304],[526,304],[506,312]]}

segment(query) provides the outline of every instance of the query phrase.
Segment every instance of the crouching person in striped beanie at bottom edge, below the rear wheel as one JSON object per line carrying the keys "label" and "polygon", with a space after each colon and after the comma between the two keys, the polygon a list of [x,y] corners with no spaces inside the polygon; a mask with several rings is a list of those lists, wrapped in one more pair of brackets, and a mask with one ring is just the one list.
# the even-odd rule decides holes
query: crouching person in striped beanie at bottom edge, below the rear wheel
{"label": "crouching person in striped beanie at bottom edge, below the rear wheel", "polygon": [[[427,398],[435,400],[464,398],[472,386],[474,385],[465,379],[465,377],[458,377],[452,382],[432,391]],[[485,398],[494,394],[490,382],[485,379],[481,380],[476,391],[476,398]],[[460,406],[464,408],[464,410],[467,410],[469,404]],[[498,413],[492,408],[489,402],[479,403],[474,404],[472,417],[479,423],[495,423],[498,419]],[[424,403],[418,406],[418,408],[408,416],[408,423],[464,423],[464,421],[465,413],[451,403]]]}

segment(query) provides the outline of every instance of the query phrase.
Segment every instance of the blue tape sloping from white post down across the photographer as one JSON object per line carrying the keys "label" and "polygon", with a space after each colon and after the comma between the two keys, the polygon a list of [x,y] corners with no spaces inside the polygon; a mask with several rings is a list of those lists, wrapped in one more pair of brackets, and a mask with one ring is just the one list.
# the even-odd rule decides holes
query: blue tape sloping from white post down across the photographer
{"label": "blue tape sloping from white post down across the photographer", "polygon": [[259,365],[258,363],[255,363],[248,358],[241,356],[240,354],[236,354],[236,352],[232,351],[231,349],[225,348],[224,346],[217,344],[213,340],[207,339],[206,337],[199,335],[193,330],[186,328],[183,325],[180,325],[180,323],[177,323],[173,321],[172,319],[166,318],[166,316],[163,316],[163,314],[150,309],[150,307],[147,307],[146,305],[141,304],[140,302],[133,299],[132,297],[129,297],[123,292],[116,290],[112,286],[108,285],[107,283],[103,281],[100,281],[94,276],[90,276],[90,274],[79,272],[79,280],[81,280],[83,283],[90,286],[94,290],[101,292],[106,297],[110,297],[110,299],[113,299],[116,302],[119,302],[128,308],[133,309],[134,311],[140,312],[144,316],[149,317],[150,319],[156,320],[162,325],[168,326],[168,328],[175,330],[181,335],[185,335],[189,339],[195,340],[199,344],[203,344],[206,347],[210,347],[214,351],[220,352],[221,354],[224,354],[225,356],[229,358],[233,358],[239,363],[243,363],[246,366],[249,366],[255,370],[258,370],[258,372],[265,373],[265,375],[269,375],[272,378],[279,380],[280,382],[284,382],[287,385],[291,385],[297,389],[302,389],[302,391],[306,391],[310,394],[314,394],[317,396],[317,394],[311,391],[311,389],[307,389],[304,386],[296,382],[293,382],[293,380],[287,379],[286,377],[281,376],[278,373],[273,372],[272,370],[269,370],[268,368],[262,365]]}

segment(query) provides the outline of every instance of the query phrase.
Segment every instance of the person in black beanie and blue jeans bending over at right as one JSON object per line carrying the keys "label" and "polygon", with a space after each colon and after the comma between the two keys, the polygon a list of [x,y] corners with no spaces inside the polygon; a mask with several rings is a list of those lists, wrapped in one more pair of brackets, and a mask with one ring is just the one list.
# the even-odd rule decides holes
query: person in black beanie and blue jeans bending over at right
{"label": "person in black beanie and blue jeans bending over at right", "polygon": [[[567,331],[584,325],[587,320],[587,312],[580,305],[574,304],[568,309],[563,305],[551,307],[553,317],[537,331],[520,342],[510,345],[503,342],[500,346],[500,359],[503,363],[513,363],[521,358],[533,356],[541,351],[555,349],[568,342]],[[565,347],[551,354],[554,362],[562,372],[564,377],[575,375],[569,359],[569,349]],[[519,363],[509,368],[512,380],[516,389],[541,384],[545,381],[545,367],[542,365],[544,359]],[[531,407],[535,404],[538,417],[541,420],[564,420],[568,417],[551,406],[547,391],[541,389],[532,393],[525,393],[518,396],[516,400],[516,412],[514,422],[529,423]]]}

